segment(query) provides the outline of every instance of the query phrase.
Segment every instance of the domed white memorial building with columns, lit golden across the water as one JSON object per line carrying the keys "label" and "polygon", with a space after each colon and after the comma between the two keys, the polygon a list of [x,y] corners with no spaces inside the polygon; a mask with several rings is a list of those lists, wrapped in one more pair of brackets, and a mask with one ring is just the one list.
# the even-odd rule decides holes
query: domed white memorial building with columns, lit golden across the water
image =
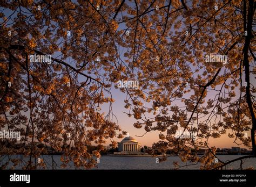
{"label": "domed white memorial building with columns, lit golden across the water", "polygon": [[118,142],[119,154],[140,154],[140,143],[132,136],[126,136]]}

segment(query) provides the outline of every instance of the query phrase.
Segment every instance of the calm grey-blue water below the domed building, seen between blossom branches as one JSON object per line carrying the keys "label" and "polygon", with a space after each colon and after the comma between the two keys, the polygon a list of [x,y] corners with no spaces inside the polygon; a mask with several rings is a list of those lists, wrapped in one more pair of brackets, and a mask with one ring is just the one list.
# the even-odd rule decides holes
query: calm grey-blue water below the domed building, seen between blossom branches
{"label": "calm grey-blue water below the domed building, seen between blossom branches", "polygon": [[[3,155],[1,155],[3,156]],[[19,157],[20,155],[11,155],[12,159]],[[242,155],[217,155],[221,161],[230,161],[241,157]],[[8,160],[8,156],[5,155],[1,157],[0,166]],[[52,169],[52,159],[56,163],[55,169],[78,169],[73,166],[70,162],[66,168],[60,168],[60,155],[42,155],[42,159],[46,163],[46,169]],[[24,159],[27,160],[27,159]],[[182,162],[178,156],[170,156],[164,162],[156,163],[156,157],[151,156],[102,156],[100,157],[100,162],[96,168],[92,169],[174,169],[173,162],[177,161],[179,166],[184,166],[180,169],[200,169],[200,163]],[[188,166],[189,164],[196,164]],[[186,166],[187,165],[187,166]],[[246,169],[248,167],[253,167],[256,169],[256,158],[244,159],[242,168]],[[228,164],[226,168],[223,169],[239,169],[240,161]],[[15,169],[21,169],[21,167],[16,167]],[[80,168],[83,169],[83,168]]]}

